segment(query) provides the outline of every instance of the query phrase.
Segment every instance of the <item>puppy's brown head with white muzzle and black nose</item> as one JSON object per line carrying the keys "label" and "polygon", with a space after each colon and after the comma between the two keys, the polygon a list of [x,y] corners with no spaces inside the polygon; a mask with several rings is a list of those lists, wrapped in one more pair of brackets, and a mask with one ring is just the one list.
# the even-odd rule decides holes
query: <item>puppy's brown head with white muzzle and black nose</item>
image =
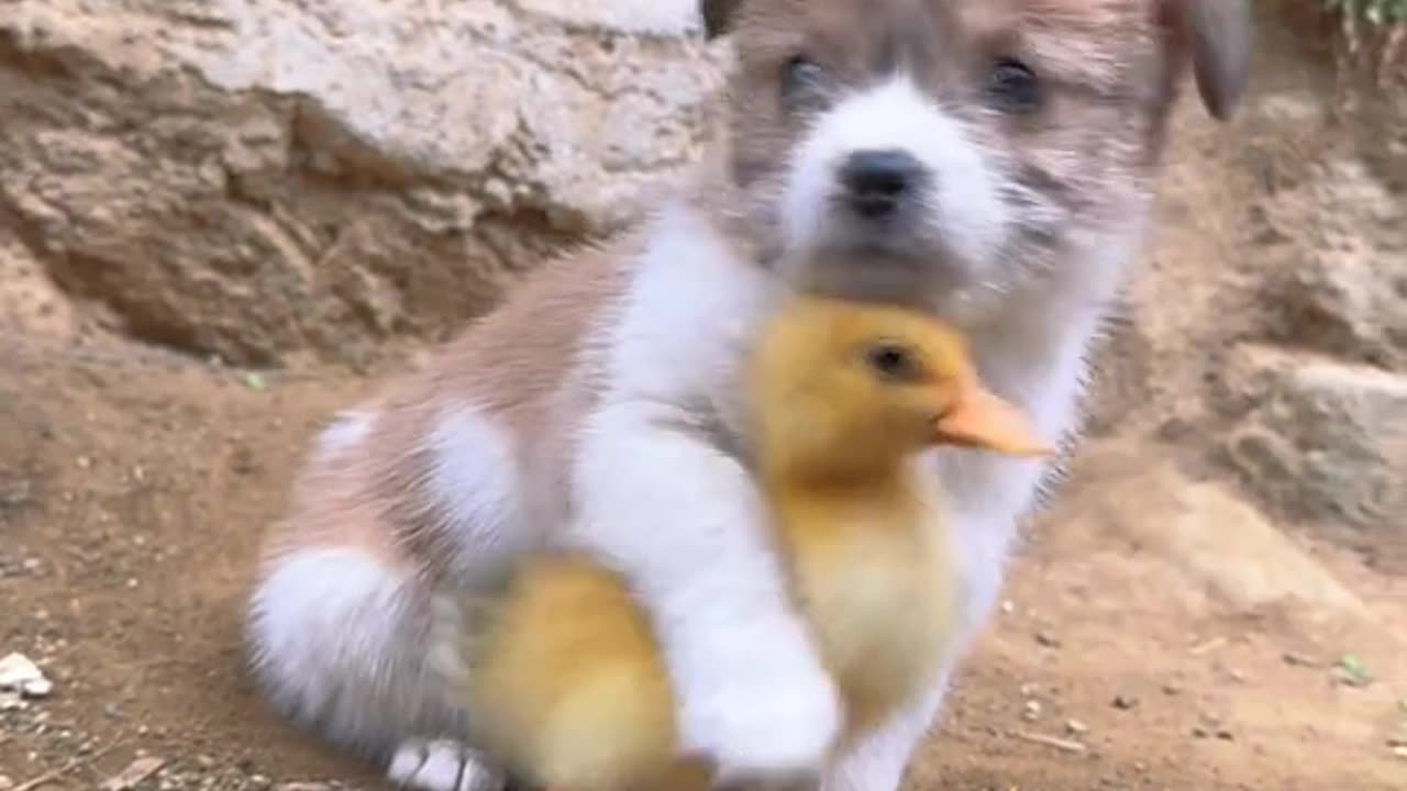
{"label": "puppy's brown head with white muzzle and black nose", "polygon": [[727,205],[798,286],[983,321],[1099,294],[1175,87],[1227,117],[1244,0],[704,0],[734,37]]}

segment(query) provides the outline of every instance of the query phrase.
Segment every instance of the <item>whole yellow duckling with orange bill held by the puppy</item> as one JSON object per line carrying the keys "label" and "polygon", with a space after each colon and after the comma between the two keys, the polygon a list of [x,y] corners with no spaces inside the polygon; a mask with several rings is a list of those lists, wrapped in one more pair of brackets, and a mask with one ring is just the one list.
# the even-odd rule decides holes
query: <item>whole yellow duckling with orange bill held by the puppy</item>
{"label": "whole yellow duckling with orange bill held by the puppy", "polygon": [[[979,386],[960,335],[908,310],[798,297],[761,328],[744,374],[777,548],[851,740],[931,683],[954,622],[919,455],[1047,449]],[[680,759],[670,680],[625,580],[592,559],[530,556],[490,611],[467,649],[469,711],[511,771],[553,791],[709,787],[709,766]]]}

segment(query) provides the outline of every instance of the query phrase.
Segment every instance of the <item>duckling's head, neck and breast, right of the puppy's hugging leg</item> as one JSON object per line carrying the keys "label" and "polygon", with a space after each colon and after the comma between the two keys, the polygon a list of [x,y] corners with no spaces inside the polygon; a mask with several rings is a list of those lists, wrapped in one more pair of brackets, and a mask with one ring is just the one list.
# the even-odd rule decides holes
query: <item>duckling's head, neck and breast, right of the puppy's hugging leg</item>
{"label": "duckling's head, neck and breast, right of the puppy's hugging leg", "polygon": [[920,455],[1048,449],[981,387],[961,335],[896,307],[796,300],[747,380],[779,556],[853,740],[933,683],[951,639],[957,569]]}

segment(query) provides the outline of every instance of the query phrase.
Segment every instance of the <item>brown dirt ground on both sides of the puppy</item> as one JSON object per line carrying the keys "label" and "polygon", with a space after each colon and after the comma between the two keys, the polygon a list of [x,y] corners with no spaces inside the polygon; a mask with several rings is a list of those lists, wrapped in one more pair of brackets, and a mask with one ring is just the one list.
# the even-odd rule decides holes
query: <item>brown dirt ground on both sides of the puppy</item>
{"label": "brown dirt ground on both sides of the puppy", "polygon": [[[1188,167],[1171,180],[1203,177]],[[1165,251],[1197,249],[1206,229],[1180,222]],[[0,656],[53,691],[0,698],[0,791],[90,788],[142,757],[142,790],[383,788],[260,707],[238,642],[259,535],[367,377],[249,379],[35,327],[0,331]],[[1346,594],[1209,594],[1216,548],[1172,556],[1099,517],[1119,442],[1086,448],[1031,532],[909,788],[1407,790],[1407,577],[1300,529],[1238,557],[1299,552]]]}

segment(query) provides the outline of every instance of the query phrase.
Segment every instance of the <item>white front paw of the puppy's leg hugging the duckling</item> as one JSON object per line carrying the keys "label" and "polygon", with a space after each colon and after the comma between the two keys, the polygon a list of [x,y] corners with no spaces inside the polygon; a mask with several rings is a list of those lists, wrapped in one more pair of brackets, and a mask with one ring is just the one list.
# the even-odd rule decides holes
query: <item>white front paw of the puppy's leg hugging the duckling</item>
{"label": "white front paw of the puppy's leg hugging the duckling", "polygon": [[757,670],[715,687],[691,740],[718,761],[725,785],[788,785],[813,777],[840,735],[834,683],[813,663]]}

